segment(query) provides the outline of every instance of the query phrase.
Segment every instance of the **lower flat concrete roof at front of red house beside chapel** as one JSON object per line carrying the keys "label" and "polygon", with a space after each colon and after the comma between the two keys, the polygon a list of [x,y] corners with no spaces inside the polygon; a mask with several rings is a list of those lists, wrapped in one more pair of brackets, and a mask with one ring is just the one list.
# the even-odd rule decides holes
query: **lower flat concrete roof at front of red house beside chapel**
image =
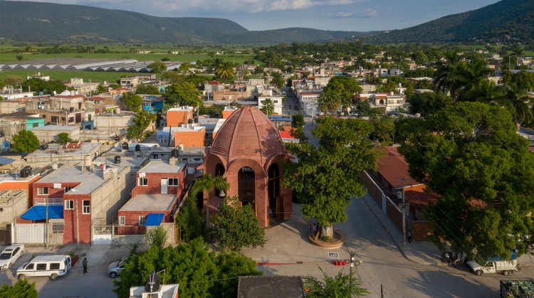
{"label": "lower flat concrete roof at front of red house beside chapel", "polygon": [[171,211],[177,196],[171,194],[138,194],[119,211]]}

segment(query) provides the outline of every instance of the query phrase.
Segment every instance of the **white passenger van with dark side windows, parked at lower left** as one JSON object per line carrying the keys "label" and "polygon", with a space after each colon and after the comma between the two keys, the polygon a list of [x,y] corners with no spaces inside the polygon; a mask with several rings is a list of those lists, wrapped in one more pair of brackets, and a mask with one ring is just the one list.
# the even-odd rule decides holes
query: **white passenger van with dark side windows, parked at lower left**
{"label": "white passenger van with dark side windows, parked at lower left", "polygon": [[69,255],[38,255],[16,270],[16,277],[25,280],[29,276],[48,276],[51,280],[67,275],[72,262]]}

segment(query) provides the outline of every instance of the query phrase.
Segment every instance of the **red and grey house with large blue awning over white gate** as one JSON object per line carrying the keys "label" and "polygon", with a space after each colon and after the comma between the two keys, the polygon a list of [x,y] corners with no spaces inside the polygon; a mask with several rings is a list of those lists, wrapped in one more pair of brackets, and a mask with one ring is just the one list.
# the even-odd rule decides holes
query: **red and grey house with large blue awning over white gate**
{"label": "red and grey house with large blue awning over white gate", "polygon": [[110,227],[129,193],[127,162],[108,158],[98,166],[86,156],[83,165],[61,166],[33,183],[31,208],[16,220],[16,242],[93,243],[100,227]]}

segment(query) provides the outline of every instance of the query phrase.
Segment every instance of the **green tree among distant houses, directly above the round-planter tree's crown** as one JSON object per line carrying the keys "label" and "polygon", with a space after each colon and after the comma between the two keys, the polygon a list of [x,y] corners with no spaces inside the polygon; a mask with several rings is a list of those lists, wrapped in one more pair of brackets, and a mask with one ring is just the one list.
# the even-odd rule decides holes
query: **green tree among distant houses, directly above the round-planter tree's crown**
{"label": "green tree among distant houses, directly above the round-planter tree's crown", "polygon": [[362,92],[362,87],[355,79],[335,76],[328,81],[319,97],[319,109],[324,112],[336,112],[340,107],[349,107],[358,92]]}

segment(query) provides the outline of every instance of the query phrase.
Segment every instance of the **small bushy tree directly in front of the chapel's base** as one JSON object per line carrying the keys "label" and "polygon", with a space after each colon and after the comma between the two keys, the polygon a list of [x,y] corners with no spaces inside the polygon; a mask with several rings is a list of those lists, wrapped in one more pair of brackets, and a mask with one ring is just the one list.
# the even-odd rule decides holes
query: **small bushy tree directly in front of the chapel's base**
{"label": "small bushy tree directly in front of the chapel's base", "polygon": [[263,248],[265,229],[259,224],[250,205],[241,206],[237,197],[230,197],[219,204],[214,233],[222,250],[239,252],[241,248]]}

